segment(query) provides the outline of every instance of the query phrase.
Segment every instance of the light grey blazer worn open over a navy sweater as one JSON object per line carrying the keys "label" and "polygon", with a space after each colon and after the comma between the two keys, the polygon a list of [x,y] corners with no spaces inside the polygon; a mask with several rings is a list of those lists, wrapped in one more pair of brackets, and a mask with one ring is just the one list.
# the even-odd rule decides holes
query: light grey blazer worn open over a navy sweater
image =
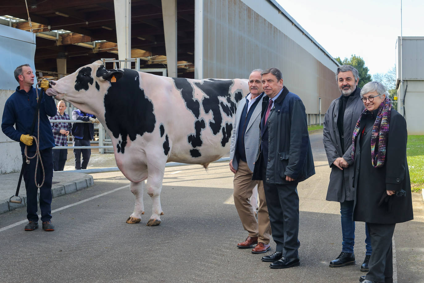
{"label": "light grey blazer worn open over a navy sweater", "polygon": [[[253,172],[255,167],[254,162],[257,158],[257,153],[259,149],[259,140],[260,140],[260,130],[259,123],[261,121],[261,112],[262,112],[262,100],[265,94],[259,98],[258,103],[255,106],[255,109],[252,113],[252,116],[249,120],[249,123],[246,127],[246,132],[244,136],[244,150],[246,153],[246,161],[250,171]],[[238,129],[240,126],[240,117],[243,112],[243,108],[246,105],[246,98],[243,98],[237,105],[236,111],[236,120],[234,121],[234,129],[231,135],[231,147],[230,147],[230,160],[233,160],[233,167],[235,170],[238,168],[237,158],[234,158],[235,147],[237,143]]]}

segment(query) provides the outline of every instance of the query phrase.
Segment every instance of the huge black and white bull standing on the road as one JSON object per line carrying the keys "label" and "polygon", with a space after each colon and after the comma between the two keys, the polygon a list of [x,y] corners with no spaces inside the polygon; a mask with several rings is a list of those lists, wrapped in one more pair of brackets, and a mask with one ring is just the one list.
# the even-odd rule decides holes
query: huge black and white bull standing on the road
{"label": "huge black and white bull standing on the road", "polygon": [[148,226],[161,222],[165,163],[207,165],[229,152],[237,102],[247,80],[187,79],[130,69],[106,70],[96,61],[53,81],[48,95],[96,115],[112,138],[118,168],[136,197],[127,223],[144,214],[143,190],[152,198]]}

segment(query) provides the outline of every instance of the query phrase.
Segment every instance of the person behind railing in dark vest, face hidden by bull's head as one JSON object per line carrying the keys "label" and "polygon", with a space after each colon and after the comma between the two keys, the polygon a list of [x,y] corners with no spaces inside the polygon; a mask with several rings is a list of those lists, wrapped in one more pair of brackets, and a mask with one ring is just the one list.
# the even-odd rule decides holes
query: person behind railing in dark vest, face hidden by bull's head
{"label": "person behind railing in dark vest, face hidden by bull's head", "polygon": [[[90,146],[94,138],[94,123],[99,123],[95,115],[82,112],[80,109],[72,111],[72,120],[81,120],[90,123],[73,123],[73,146]],[[81,162],[82,154],[82,162]],[[86,169],[91,156],[91,149],[74,149],[75,169]]]}

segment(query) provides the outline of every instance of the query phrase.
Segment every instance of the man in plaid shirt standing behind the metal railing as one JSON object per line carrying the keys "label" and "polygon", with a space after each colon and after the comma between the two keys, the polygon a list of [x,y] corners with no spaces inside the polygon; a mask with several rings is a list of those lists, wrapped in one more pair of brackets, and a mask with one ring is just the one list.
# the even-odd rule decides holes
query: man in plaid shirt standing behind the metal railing
{"label": "man in plaid shirt standing behind the metal railing", "polygon": [[[61,100],[57,103],[56,116],[50,117],[50,120],[70,120],[69,115],[65,113],[66,104]],[[52,131],[54,143],[56,146],[68,146],[67,137],[71,133],[71,123],[52,122]],[[53,170],[63,171],[67,160],[67,149],[53,149]]]}

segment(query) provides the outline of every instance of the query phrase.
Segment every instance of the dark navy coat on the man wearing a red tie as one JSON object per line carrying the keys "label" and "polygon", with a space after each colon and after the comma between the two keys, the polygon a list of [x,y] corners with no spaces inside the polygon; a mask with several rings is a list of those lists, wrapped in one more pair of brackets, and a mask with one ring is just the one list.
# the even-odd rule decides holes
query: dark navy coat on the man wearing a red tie
{"label": "dark navy coat on the man wearing a red tie", "polygon": [[[268,102],[269,97],[264,96],[261,120],[268,108]],[[286,181],[286,176],[301,182],[315,174],[305,106],[301,99],[283,87],[271,108],[268,122],[269,154],[266,176],[262,176],[263,153],[259,146],[252,179],[265,180],[270,184],[290,184],[292,182]]]}

